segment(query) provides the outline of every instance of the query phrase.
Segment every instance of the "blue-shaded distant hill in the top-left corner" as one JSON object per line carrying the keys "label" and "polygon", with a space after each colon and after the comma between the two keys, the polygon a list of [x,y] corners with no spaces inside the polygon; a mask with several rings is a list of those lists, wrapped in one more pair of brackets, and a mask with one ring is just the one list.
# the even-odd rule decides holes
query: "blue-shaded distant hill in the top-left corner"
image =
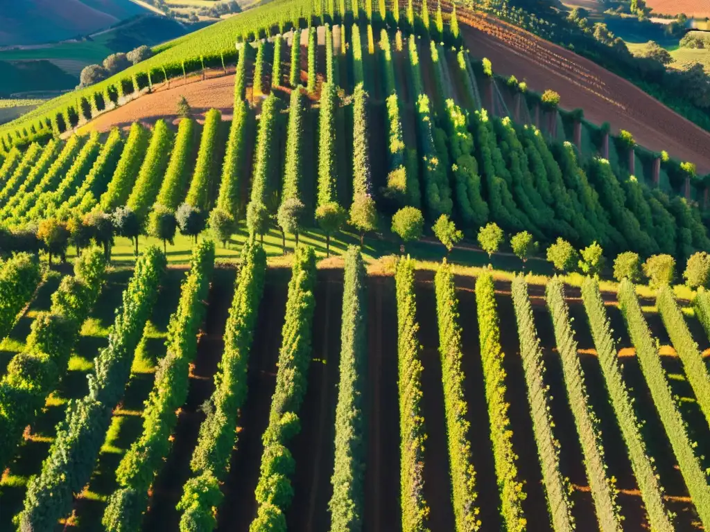
{"label": "blue-shaded distant hill in the top-left corner", "polygon": [[130,0],[3,0],[0,46],[65,40],[150,12]]}

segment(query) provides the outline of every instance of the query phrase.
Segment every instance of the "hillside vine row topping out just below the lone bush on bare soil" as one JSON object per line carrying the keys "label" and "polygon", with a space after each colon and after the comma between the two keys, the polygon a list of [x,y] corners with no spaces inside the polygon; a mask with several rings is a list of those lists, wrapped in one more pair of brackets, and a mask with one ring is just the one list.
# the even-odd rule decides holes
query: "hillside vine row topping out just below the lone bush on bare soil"
{"label": "hillside vine row topping out just below the lone bush on bare soil", "polygon": [[[130,137],[129,137],[130,139]],[[175,146],[170,154],[168,169],[160,185],[160,192],[155,203],[175,210],[182,203],[187,188],[187,179],[190,177],[190,155],[195,143],[195,121],[192,118],[182,118],[175,136]]]}

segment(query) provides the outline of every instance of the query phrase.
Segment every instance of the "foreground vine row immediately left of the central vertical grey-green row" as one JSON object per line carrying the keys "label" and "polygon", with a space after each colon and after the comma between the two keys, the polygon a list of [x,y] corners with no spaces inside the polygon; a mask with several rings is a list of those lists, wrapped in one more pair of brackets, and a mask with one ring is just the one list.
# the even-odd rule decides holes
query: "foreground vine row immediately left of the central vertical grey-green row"
{"label": "foreground vine row immediately left of the central vertical grey-green row", "polygon": [[[315,252],[312,248],[297,248],[293,273],[288,284],[286,317],[278,355],[276,389],[271,398],[271,411],[261,455],[261,472],[256,485],[258,511],[249,530],[285,530],[285,510],[293,497],[290,476],[295,463],[288,444],[300,431],[300,410],[307,386],[311,358],[311,331],[315,299]],[[270,528],[266,523],[283,521],[283,526]]]}

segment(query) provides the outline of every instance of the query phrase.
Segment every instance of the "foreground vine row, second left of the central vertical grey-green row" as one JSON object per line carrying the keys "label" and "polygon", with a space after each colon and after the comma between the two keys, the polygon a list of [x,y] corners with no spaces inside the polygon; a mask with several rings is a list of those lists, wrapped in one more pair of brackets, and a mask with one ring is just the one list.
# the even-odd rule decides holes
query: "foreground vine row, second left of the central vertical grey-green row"
{"label": "foreground vine row, second left of the central vertical grey-green row", "polygon": [[[200,436],[190,462],[195,476],[185,483],[178,504],[178,510],[182,511],[181,532],[214,528],[214,519],[207,516],[212,517],[212,509],[222,501],[218,481],[229,470],[231,452],[238,438],[237,413],[246,399],[249,351],[266,277],[266,253],[261,245],[248,240],[241,257],[242,266],[224,333],[224,353],[209,399],[209,414],[200,425]],[[197,528],[195,521],[202,520],[212,523],[212,528]]]}

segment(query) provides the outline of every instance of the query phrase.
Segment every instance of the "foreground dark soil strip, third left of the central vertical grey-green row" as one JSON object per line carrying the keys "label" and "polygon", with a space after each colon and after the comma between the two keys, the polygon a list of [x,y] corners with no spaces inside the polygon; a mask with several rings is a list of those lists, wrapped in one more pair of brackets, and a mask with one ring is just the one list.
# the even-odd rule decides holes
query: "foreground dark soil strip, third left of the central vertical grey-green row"
{"label": "foreground dark soil strip, third left of the central vertical grey-green row", "polygon": [[200,424],[204,421],[204,413],[200,408],[214,390],[214,374],[224,350],[224,326],[234,292],[235,277],[234,267],[214,270],[207,299],[207,314],[197,343],[197,356],[190,368],[187,401],[180,409],[168,460],[153,482],[150,509],[143,520],[145,530],[178,530],[180,514],[175,510],[175,504],[182,497],[182,486],[192,476],[190,458],[197,444]]}

